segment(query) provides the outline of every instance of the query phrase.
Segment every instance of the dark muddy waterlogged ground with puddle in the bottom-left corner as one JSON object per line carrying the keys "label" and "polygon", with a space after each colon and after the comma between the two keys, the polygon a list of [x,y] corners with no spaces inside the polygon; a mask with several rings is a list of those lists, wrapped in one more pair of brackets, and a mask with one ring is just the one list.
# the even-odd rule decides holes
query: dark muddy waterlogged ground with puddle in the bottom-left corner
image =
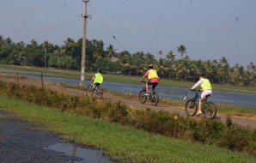
{"label": "dark muddy waterlogged ground with puddle in the bottom-left corner", "polygon": [[12,113],[0,111],[0,162],[114,162],[99,149],[63,142],[56,135],[34,129],[40,127],[16,120]]}

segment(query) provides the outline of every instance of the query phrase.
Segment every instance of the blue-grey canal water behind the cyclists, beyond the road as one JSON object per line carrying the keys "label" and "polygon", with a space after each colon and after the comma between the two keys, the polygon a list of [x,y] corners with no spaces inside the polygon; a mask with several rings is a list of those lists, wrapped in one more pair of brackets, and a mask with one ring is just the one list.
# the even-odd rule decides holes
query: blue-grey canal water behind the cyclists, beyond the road
{"label": "blue-grey canal water behind the cyclists, beyond the road", "polygon": [[[35,80],[40,80],[39,76],[25,76],[27,78],[34,78]],[[79,80],[64,79],[58,77],[44,77],[44,81],[59,82],[70,86],[77,86],[80,83]],[[84,83],[86,86],[88,86],[89,84],[88,81],[85,81]],[[138,94],[139,91],[144,87],[144,85],[142,83],[126,84],[119,82],[103,82],[101,87],[123,94]],[[192,98],[194,95],[193,92],[190,91],[190,88],[163,87],[160,84],[157,86],[156,89],[160,98],[167,100],[183,100],[185,94],[188,95],[188,98]],[[209,100],[217,104],[256,107],[256,94],[213,91],[213,94],[210,96]]]}

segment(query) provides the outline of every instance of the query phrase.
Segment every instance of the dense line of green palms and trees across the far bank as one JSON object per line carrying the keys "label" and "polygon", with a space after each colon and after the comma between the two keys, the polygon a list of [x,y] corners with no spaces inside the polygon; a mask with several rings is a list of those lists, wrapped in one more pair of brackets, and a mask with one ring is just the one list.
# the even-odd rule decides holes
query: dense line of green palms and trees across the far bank
{"label": "dense line of green palms and trees across the far bank", "polygon": [[[117,52],[113,45],[104,48],[104,42],[97,39],[86,42],[85,70],[102,69],[105,73],[143,75],[150,63],[155,65],[161,78],[178,81],[198,81],[198,74],[204,72],[212,83],[232,84],[239,86],[256,85],[256,67],[253,62],[247,67],[235,64],[231,67],[226,57],[219,60],[192,60],[186,55],[186,45],[177,47],[180,58],[176,58],[174,51],[168,52],[162,58],[162,51],[158,51],[160,59],[143,51],[131,54],[129,51]],[[10,38],[0,35],[0,63],[21,66],[54,67],[58,69],[81,69],[82,38],[75,41],[68,38],[63,45],[53,45],[47,40],[39,44],[32,39],[29,44],[23,41],[15,43]]]}

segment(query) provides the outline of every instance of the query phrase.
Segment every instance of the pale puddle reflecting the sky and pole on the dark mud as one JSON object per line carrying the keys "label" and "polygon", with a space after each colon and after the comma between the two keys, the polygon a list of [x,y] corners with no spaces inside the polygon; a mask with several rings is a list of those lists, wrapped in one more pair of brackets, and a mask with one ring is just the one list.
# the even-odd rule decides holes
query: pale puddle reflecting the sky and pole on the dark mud
{"label": "pale puddle reflecting the sky and pole on the dark mud", "polygon": [[70,161],[67,163],[113,163],[106,155],[99,149],[94,148],[80,148],[70,142],[60,142],[48,146],[45,149],[53,150],[59,153],[70,156]]}

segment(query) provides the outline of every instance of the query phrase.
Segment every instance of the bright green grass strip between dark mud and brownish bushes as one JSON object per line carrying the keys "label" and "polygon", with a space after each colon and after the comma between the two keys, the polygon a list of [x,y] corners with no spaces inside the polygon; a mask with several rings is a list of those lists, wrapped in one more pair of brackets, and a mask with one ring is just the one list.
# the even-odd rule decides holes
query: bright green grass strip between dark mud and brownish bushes
{"label": "bright green grass strip between dark mud and brownish bushes", "polygon": [[101,119],[37,106],[14,97],[1,95],[0,101],[0,110],[14,112],[21,120],[41,124],[44,130],[56,133],[66,141],[101,148],[113,160],[162,163],[255,162],[255,157],[249,154],[198,142],[176,140]]}

